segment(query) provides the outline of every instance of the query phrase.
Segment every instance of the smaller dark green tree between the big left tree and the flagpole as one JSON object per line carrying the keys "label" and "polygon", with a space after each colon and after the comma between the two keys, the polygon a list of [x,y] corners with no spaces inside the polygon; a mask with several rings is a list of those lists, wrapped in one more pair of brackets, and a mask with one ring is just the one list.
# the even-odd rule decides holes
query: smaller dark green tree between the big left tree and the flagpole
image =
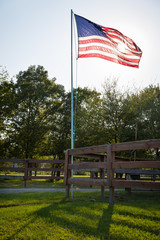
{"label": "smaller dark green tree between the big left tree and the flagpole", "polygon": [[64,159],[64,150],[70,148],[71,142],[71,103],[70,93],[61,92],[61,107],[51,123],[49,134],[43,144],[43,155],[54,159]]}

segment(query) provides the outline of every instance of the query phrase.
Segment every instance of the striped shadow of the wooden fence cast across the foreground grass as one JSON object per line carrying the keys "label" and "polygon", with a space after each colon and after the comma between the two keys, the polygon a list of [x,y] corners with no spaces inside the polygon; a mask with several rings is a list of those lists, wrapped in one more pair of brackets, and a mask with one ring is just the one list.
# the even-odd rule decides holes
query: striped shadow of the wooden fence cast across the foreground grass
{"label": "striped shadow of the wooden fence cast across the foreground grass", "polygon": [[[109,206],[108,203],[105,203],[105,205],[101,205],[101,201],[91,202],[90,200],[83,200],[83,198],[81,200],[78,199],[72,201],[67,200],[66,198],[62,198],[57,202],[48,204],[48,206],[42,207],[39,210],[35,211],[30,216],[31,220],[24,224],[17,231],[17,233],[14,233],[8,239],[14,239],[18,237],[18,234],[20,232],[22,232],[25,228],[29,227],[29,224],[37,222],[39,219],[43,219],[44,222],[47,224],[56,224],[64,230],[69,230],[74,235],[81,235],[84,238],[85,236],[95,236],[101,240],[110,238],[121,240],[129,239],[129,236],[127,237],[126,233],[124,236],[117,235],[118,233],[115,233],[115,238],[114,236],[111,236],[111,224],[114,225],[112,227],[121,227],[122,231],[123,229],[124,231],[126,231],[125,227],[127,227],[133,232],[139,231],[140,234],[142,232],[147,232],[148,234],[154,234],[155,237],[157,237],[159,236],[157,227],[155,229],[152,229],[152,227],[145,226],[144,224],[138,225],[138,220],[140,219],[141,221],[143,219],[146,219],[148,221],[153,220],[155,222],[160,220],[159,217],[156,217],[153,214],[151,216],[148,216],[148,214],[145,214],[145,211],[142,211],[141,213],[135,211],[136,208],[142,208],[135,205],[135,197],[138,196],[141,196],[141,200],[144,200],[148,195],[135,193],[133,194],[133,196],[127,197],[126,194],[122,194],[120,195],[121,201],[119,201],[119,203],[116,204],[115,207]],[[118,196],[117,199],[120,200],[120,197]],[[147,200],[147,203],[144,205],[145,207],[150,206],[149,200]],[[131,207],[133,209],[131,209],[130,211],[128,207]],[[143,209],[144,208],[142,208],[142,210]],[[114,219],[112,218],[113,210],[115,214]]]}

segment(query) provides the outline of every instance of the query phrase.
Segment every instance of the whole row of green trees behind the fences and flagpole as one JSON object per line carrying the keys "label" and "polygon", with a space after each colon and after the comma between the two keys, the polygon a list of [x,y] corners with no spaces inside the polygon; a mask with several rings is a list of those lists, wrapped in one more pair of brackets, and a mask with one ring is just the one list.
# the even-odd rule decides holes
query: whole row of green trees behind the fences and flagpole
{"label": "whole row of green trees behind the fences and flagpole", "polygon": [[[103,92],[74,90],[75,147],[160,138],[160,87],[121,92],[116,79]],[[0,158],[63,158],[71,142],[71,97],[42,66],[12,81],[0,69]],[[159,157],[145,151],[141,157]]]}

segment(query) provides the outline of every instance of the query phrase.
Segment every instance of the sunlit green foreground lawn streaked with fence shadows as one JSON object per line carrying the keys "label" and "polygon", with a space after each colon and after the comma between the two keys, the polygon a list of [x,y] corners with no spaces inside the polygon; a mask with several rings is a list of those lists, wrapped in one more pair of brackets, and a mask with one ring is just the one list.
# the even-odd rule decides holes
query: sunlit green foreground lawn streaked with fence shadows
{"label": "sunlit green foreground lawn streaked with fence shadows", "polygon": [[159,240],[160,192],[1,194],[0,239]]}

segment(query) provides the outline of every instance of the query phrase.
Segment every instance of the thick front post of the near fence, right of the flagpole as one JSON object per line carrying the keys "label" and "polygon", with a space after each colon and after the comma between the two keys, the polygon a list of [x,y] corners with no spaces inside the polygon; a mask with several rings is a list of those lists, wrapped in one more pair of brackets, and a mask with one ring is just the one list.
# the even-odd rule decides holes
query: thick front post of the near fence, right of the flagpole
{"label": "thick front post of the near fence, right of the flagpole", "polygon": [[112,180],[114,178],[114,169],[112,168],[112,163],[115,158],[115,152],[112,152],[112,145],[107,145],[107,182],[109,187],[109,205],[114,204],[114,186],[112,185]]}

